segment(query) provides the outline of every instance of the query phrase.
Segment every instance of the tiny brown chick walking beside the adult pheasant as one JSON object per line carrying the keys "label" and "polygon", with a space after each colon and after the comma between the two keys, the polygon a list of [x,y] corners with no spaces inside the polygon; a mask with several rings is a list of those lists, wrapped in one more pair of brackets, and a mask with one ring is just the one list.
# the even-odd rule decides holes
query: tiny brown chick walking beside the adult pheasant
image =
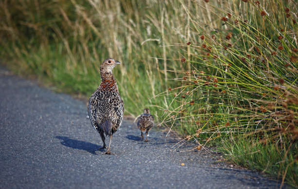
{"label": "tiny brown chick walking beside the adult pheasant", "polygon": [[141,140],[144,141],[143,132],[146,131],[146,140],[148,142],[147,136],[149,130],[154,126],[154,117],[150,114],[149,109],[145,108],[144,113],[139,115],[136,119],[138,119],[138,128],[141,130]]}

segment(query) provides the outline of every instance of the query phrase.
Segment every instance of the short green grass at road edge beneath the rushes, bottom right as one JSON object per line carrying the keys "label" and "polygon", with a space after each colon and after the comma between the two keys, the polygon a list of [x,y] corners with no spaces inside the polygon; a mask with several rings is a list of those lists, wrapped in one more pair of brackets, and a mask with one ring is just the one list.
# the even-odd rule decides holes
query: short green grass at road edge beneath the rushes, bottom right
{"label": "short green grass at road edge beneath the rushes, bottom right", "polygon": [[265,145],[263,141],[253,137],[242,138],[236,143],[225,141],[223,146],[221,151],[227,155],[228,161],[266,175],[277,176],[282,183],[285,180],[297,183],[298,169],[294,156],[297,151],[294,148],[287,147],[289,151],[281,151],[277,145],[273,143]]}

